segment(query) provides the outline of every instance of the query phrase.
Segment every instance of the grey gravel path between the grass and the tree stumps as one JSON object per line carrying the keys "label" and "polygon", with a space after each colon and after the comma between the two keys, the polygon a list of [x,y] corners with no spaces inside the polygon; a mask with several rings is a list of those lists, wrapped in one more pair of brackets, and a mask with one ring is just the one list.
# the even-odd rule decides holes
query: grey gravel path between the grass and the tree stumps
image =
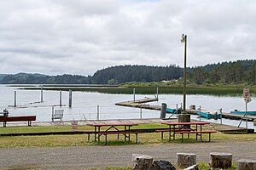
{"label": "grey gravel path between the grass and the tree stumps", "polygon": [[84,146],[0,149],[0,168],[82,169],[84,167],[131,166],[133,153],[176,162],[177,152],[193,152],[197,161],[208,161],[213,151],[229,152],[233,160],[256,159],[256,142],[220,141],[195,144]]}

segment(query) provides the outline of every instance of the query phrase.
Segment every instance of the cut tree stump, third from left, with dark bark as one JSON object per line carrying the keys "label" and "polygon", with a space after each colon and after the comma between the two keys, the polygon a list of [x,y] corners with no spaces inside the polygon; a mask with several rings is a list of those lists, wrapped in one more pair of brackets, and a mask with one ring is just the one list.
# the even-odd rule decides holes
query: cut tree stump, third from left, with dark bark
{"label": "cut tree stump, third from left, with dark bark", "polygon": [[230,153],[210,153],[210,167],[229,168],[232,166],[232,154]]}

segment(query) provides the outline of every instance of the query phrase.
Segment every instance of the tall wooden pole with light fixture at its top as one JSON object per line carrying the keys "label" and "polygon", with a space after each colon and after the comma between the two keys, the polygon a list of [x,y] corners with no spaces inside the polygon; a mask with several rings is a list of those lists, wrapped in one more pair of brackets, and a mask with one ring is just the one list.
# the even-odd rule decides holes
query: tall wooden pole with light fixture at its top
{"label": "tall wooden pole with light fixture at its top", "polygon": [[183,71],[183,113],[186,113],[186,82],[187,82],[187,35],[182,36],[184,42],[184,71]]}

